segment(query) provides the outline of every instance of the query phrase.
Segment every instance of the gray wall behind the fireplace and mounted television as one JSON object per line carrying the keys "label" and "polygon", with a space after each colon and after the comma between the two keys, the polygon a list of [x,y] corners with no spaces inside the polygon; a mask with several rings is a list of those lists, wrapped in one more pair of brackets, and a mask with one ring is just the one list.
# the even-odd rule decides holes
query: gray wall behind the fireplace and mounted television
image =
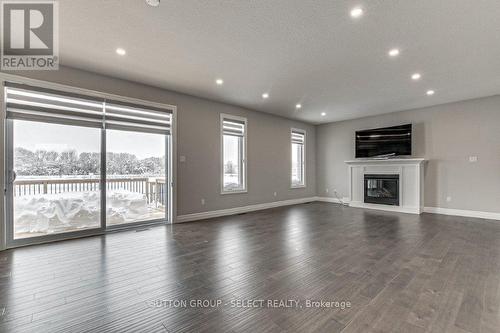
{"label": "gray wall behind the fireplace and mounted television", "polygon": [[348,196],[356,130],[404,123],[414,126],[413,156],[429,159],[425,206],[500,212],[500,96],[317,126],[318,196]]}

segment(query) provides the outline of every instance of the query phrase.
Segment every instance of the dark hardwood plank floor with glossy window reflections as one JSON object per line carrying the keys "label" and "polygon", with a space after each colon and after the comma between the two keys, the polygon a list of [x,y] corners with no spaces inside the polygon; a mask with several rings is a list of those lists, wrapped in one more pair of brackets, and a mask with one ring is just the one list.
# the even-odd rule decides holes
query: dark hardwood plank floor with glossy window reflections
{"label": "dark hardwood plank floor with glossy window reflections", "polygon": [[0,287],[1,332],[499,332],[500,223],[304,204],[0,252]]}

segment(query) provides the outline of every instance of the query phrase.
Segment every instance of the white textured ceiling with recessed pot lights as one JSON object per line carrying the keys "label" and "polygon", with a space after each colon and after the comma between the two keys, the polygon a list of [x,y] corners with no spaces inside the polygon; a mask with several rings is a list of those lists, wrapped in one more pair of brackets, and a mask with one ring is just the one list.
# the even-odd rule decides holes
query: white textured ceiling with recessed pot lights
{"label": "white textured ceiling with recessed pot lights", "polygon": [[498,0],[59,3],[63,65],[311,123],[500,93]]}

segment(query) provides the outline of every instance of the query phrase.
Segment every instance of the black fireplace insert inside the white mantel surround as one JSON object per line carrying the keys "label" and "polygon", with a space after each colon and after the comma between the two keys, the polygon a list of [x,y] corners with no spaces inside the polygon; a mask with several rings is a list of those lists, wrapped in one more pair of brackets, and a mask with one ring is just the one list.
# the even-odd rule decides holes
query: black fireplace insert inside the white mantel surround
{"label": "black fireplace insert inside the white mantel surround", "polygon": [[399,206],[399,175],[365,174],[365,203]]}

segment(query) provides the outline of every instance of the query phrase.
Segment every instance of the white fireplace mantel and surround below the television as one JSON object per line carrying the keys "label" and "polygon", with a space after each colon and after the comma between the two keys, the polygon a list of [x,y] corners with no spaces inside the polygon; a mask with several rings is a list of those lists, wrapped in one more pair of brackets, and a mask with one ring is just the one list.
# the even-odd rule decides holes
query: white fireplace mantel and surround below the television
{"label": "white fireplace mantel and surround below the television", "polygon": [[[359,159],[349,167],[349,206],[421,214],[424,206],[423,158]],[[399,206],[364,202],[365,174],[399,175]]]}

